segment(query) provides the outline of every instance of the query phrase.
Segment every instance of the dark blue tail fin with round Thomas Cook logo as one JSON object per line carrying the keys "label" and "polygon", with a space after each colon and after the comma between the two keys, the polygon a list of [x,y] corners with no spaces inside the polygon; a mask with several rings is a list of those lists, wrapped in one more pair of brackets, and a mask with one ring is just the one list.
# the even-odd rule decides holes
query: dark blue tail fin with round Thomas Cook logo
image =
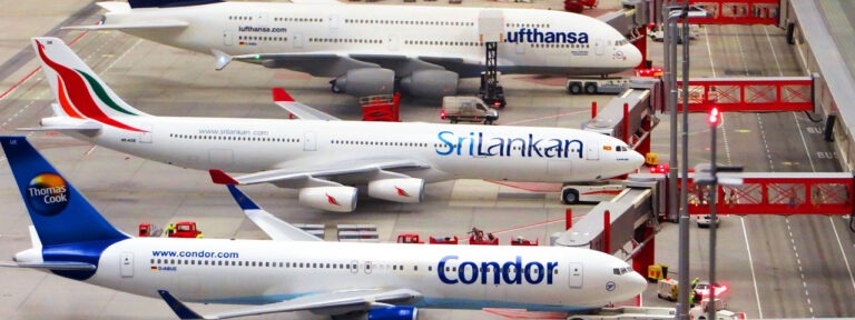
{"label": "dark blue tail fin with round Thomas Cook logo", "polygon": [[[27,138],[4,136],[0,137],[0,144],[9,160],[27,210],[30,211],[32,224],[36,226],[41,244],[46,249],[80,242],[106,244],[129,238],[110,226],[89,201],[32,148]],[[49,260],[47,256],[45,260]]]}

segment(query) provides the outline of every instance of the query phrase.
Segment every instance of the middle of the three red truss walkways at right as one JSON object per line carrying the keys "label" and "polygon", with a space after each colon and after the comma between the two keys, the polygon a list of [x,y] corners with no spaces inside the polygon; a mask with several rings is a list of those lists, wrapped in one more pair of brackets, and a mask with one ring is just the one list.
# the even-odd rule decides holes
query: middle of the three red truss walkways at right
{"label": "middle of the three red truss walkways at right", "polygon": [[[682,81],[677,81],[682,88]],[[682,110],[682,92],[677,99]],[[689,112],[814,111],[810,77],[689,79]]]}

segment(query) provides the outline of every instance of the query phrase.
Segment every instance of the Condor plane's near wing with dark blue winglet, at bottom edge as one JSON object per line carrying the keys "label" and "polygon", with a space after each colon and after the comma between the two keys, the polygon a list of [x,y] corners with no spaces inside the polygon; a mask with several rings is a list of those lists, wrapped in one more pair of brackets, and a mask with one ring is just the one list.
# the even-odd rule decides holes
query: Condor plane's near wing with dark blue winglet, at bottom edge
{"label": "Condor plane's near wing with dark blue winglet, at bottom edge", "polygon": [[348,290],[308,294],[282,302],[202,316],[173,297],[169,291],[158,290],[157,292],[180,319],[228,319],[292,311],[312,311],[318,314],[335,316],[367,311],[372,308],[392,307],[394,303],[412,303],[422,298],[421,293],[410,289]]}

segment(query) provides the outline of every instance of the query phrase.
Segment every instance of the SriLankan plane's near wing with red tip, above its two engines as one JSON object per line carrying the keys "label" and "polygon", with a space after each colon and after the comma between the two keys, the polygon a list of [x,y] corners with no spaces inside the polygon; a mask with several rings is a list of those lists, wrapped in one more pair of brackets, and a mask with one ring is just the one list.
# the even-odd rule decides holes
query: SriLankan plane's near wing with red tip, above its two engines
{"label": "SriLankan plane's near wing with red tip, above its two engines", "polygon": [[[356,180],[368,181],[377,174],[409,178],[386,170],[419,170],[431,168],[430,163],[410,159],[363,159],[341,162],[320,163],[299,169],[273,169],[232,178],[218,169],[210,170],[212,180],[218,184],[273,183],[279,188],[337,187],[340,183],[326,179],[348,176]],[[358,179],[363,178],[363,179]]]}

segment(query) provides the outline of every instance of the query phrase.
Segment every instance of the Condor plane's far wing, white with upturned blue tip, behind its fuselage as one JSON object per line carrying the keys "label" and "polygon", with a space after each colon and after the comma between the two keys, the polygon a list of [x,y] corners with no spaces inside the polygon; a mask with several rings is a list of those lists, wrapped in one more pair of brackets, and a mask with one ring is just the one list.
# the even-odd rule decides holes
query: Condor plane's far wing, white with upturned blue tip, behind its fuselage
{"label": "Condor plane's far wing, white with upturned blue tip, behind its fuselage", "polygon": [[276,241],[323,241],[321,238],[309,234],[302,229],[292,226],[288,222],[282,221],[262,209],[256,204],[253,199],[246,197],[244,192],[237,189],[234,184],[228,184],[228,191],[232,192],[232,197],[235,198],[237,204],[244,210],[246,217],[253,220],[258,228],[262,228],[271,239]]}

